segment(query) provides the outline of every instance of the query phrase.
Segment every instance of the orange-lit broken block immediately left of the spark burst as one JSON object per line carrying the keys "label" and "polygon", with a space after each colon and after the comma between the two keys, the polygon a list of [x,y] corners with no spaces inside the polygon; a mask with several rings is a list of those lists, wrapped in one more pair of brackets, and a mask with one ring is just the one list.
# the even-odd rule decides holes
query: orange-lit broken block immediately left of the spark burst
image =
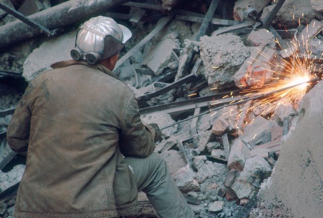
{"label": "orange-lit broken block immediately left of the spark burst", "polygon": [[275,49],[259,46],[251,48],[250,51],[250,57],[233,76],[236,86],[240,88],[247,86],[261,87],[273,77],[273,72],[268,66],[268,62],[275,58]]}

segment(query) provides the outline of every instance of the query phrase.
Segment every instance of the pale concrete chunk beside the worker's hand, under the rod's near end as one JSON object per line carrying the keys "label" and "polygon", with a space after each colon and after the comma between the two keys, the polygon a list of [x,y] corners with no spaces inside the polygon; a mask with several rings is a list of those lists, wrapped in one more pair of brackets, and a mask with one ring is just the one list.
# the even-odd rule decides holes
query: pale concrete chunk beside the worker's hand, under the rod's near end
{"label": "pale concrete chunk beside the worker's hand, under the rod's near end", "polygon": [[[175,123],[173,118],[169,114],[155,113],[141,118],[144,124],[156,123],[159,127],[167,126],[169,124]],[[170,137],[177,132],[178,125],[171,126],[169,128],[161,130],[163,135]]]}

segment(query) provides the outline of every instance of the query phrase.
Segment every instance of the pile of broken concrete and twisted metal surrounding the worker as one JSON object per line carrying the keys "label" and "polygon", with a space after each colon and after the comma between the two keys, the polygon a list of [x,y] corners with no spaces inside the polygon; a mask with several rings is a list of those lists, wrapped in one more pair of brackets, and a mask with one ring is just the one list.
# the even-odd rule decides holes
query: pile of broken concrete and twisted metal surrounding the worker
{"label": "pile of broken concrete and twisted metal surrounding the worker", "polygon": [[[55,20],[43,22],[59,8],[60,16],[69,15],[65,9],[72,1],[22,2],[23,15],[33,14],[38,24],[60,29],[51,32],[55,36],[33,38],[40,32],[28,27],[29,41],[13,48],[0,42],[4,50],[0,60],[5,63],[0,82],[8,77],[30,82],[53,62],[70,59],[81,22],[78,16],[60,25],[51,23]],[[322,194],[315,192],[322,184],[317,156],[321,152],[314,147],[322,135],[314,117],[320,117],[322,83],[305,95],[322,76],[323,2],[183,2],[116,1],[116,8],[101,12],[95,7],[93,13],[111,16],[132,30],[133,38],[121,51],[114,73],[136,94],[142,121],[163,129],[155,152],[167,161],[196,217],[306,217],[312,211],[292,198],[323,208]],[[75,8],[77,13],[82,7]],[[13,25],[4,21],[9,16],[0,13],[4,24],[0,29]],[[87,12],[82,20],[90,16]],[[20,27],[22,21],[15,22]],[[9,44],[18,38],[4,40]],[[9,185],[11,191],[4,192],[6,187],[0,192],[4,217],[12,213],[13,187],[23,171],[5,140],[11,108],[21,97],[14,90],[0,98],[0,170],[17,175]],[[311,137],[303,138],[307,130]],[[295,156],[302,170],[292,167]],[[298,175],[296,189],[288,184],[294,182],[290,172]],[[314,179],[307,182],[307,178]],[[315,199],[302,198],[302,187]],[[143,193],[139,201],[144,202],[142,211],[149,210],[154,217]],[[322,211],[316,211],[313,217],[321,217]]]}

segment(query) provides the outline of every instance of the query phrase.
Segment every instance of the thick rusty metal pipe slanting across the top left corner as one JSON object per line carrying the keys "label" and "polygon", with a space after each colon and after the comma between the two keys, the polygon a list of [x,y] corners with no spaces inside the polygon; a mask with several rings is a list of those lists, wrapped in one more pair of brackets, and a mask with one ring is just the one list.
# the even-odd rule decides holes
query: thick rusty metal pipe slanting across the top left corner
{"label": "thick rusty metal pipe slanting across the top left corner", "polygon": [[[116,5],[122,5],[127,0],[70,0],[60,5],[48,8],[26,18],[50,30],[57,29],[85,19],[92,14],[106,11]],[[0,48],[30,39],[41,34],[37,29],[17,20],[0,27]]]}

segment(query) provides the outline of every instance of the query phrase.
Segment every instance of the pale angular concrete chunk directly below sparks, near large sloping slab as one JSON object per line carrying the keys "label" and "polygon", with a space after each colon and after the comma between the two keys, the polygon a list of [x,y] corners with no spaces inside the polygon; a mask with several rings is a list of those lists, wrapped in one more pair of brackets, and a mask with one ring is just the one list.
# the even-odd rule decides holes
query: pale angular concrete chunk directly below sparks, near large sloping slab
{"label": "pale angular concrete chunk directly below sparks, near large sloping slab", "polygon": [[275,121],[268,121],[261,116],[258,116],[254,121],[247,125],[244,129],[240,140],[253,148],[255,145],[264,144],[272,141],[271,130],[280,128]]}

